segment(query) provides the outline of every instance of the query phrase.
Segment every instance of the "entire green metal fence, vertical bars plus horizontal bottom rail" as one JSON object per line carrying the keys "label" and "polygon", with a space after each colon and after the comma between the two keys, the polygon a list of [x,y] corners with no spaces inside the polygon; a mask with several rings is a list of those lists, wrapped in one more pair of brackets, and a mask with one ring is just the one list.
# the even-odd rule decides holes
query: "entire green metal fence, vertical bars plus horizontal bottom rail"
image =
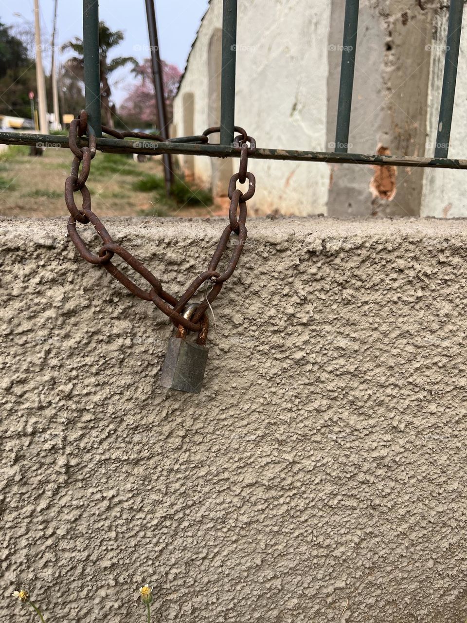
{"label": "entire green metal fence, vertical bars plus horizontal bottom rail", "polygon": [[[234,140],[235,120],[235,55],[237,40],[237,2],[223,0],[223,36],[222,36],[222,75],[220,97],[220,143],[158,142],[158,153],[187,154],[212,157],[239,158]],[[334,152],[283,150],[275,148],[257,149],[250,158],[271,160],[296,160],[326,163],[349,164],[392,164],[394,166],[420,166],[450,169],[467,169],[467,159],[448,158],[448,146],[451,133],[454,97],[456,89],[457,65],[459,57],[461,23],[464,0],[451,0],[449,9],[448,33],[446,37],[445,66],[441,89],[440,116],[433,157],[383,156],[359,153],[347,153],[349,127],[351,121],[352,87],[354,83],[354,62],[357,51],[357,27],[359,0],[346,0],[344,35],[342,40],[341,77],[336,123],[336,148]],[[95,128],[97,148],[114,153],[140,153],[153,155],[148,146],[135,146],[132,141],[101,136],[100,102],[100,67],[98,49],[99,10],[98,0],[83,0],[83,44],[85,100],[90,125]],[[35,145],[36,143],[54,143],[68,147],[68,137],[37,133],[0,132],[0,143],[7,145]],[[88,145],[86,138],[78,141],[79,146]]]}

